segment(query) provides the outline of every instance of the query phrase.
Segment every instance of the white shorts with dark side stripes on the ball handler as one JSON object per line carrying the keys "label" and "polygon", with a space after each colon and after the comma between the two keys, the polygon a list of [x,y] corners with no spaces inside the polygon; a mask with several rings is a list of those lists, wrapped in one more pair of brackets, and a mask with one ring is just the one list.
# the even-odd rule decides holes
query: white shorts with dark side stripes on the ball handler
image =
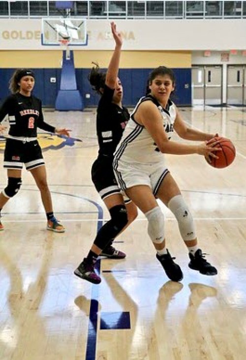
{"label": "white shorts with dark side stripes on the ball handler", "polygon": [[148,185],[157,194],[162,180],[169,173],[163,163],[161,164],[128,164],[123,161],[114,162],[116,180],[124,193],[125,189],[136,185]]}

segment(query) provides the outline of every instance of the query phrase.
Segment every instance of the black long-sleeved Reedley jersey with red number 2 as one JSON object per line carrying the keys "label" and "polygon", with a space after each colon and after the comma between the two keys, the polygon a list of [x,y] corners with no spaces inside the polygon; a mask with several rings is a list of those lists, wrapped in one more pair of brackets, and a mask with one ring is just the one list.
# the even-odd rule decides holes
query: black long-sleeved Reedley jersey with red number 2
{"label": "black long-sleeved Reedley jersey with red number 2", "polygon": [[0,122],[8,115],[9,135],[36,137],[37,128],[55,132],[55,127],[44,122],[41,100],[20,93],[8,96],[0,107]]}

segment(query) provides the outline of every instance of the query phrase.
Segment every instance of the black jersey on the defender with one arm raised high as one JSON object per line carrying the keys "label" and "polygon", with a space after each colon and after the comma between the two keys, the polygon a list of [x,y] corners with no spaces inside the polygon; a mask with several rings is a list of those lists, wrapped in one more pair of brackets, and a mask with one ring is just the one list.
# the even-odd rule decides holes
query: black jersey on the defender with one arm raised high
{"label": "black jersey on the defender with one arm raised high", "polygon": [[99,100],[96,114],[96,133],[99,145],[99,156],[113,157],[123,130],[130,118],[128,110],[113,104],[114,89],[105,86]]}

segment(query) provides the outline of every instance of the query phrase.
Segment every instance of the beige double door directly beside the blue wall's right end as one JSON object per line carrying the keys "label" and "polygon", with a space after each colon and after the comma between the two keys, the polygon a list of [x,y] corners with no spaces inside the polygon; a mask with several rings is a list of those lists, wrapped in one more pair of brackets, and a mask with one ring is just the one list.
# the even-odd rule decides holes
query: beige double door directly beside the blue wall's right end
{"label": "beige double door directly beside the blue wall's right end", "polygon": [[192,65],[193,105],[222,104],[222,66]]}

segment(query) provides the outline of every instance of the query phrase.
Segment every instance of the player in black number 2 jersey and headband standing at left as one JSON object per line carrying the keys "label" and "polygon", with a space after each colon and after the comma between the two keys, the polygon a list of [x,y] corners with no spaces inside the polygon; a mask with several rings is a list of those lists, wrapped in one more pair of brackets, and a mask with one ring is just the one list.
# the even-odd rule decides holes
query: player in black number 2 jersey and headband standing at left
{"label": "player in black number 2 jersey and headband standing at left", "polygon": [[[8,115],[10,125],[3,162],[3,167],[7,169],[8,184],[0,193],[0,210],[19,191],[24,163],[40,190],[47,216],[47,230],[63,233],[65,229],[53,213],[44,159],[37,141],[37,128],[66,136],[69,136],[70,130],[55,128],[44,121],[41,100],[31,95],[34,83],[35,76],[31,70],[17,69],[10,79],[12,95],[0,107],[0,122]],[[5,128],[0,124],[0,132]],[[0,230],[3,230],[1,222]]]}

